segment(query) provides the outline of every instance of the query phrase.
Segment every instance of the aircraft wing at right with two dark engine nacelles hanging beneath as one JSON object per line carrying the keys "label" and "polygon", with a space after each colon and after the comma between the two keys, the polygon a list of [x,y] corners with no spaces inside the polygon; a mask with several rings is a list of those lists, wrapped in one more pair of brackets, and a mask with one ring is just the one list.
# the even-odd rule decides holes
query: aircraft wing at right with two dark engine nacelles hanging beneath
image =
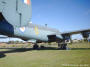
{"label": "aircraft wing at right with two dark engine nacelles hanging beneath", "polygon": [[84,29],[84,30],[77,30],[77,31],[71,31],[71,32],[63,32],[61,35],[64,39],[68,39],[73,34],[82,34],[84,38],[88,38],[90,34],[90,29]]}

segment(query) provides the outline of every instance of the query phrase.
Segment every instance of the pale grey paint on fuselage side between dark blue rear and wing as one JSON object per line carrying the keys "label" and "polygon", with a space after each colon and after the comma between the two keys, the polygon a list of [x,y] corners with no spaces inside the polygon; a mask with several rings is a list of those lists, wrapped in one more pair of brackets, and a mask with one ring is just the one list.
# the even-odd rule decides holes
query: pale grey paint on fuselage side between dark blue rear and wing
{"label": "pale grey paint on fuselage side between dark blue rear and wing", "polygon": [[[31,24],[32,25],[32,24]],[[57,32],[51,31],[51,30],[45,30],[40,29],[40,27],[36,26],[38,28],[38,33],[35,32],[35,27],[26,26],[25,31],[22,32],[20,28],[16,28],[14,30],[14,35],[18,35],[18,37],[26,37],[27,39],[36,39],[40,41],[48,41],[48,35],[57,35]],[[61,35],[57,35],[59,38],[62,38]]]}

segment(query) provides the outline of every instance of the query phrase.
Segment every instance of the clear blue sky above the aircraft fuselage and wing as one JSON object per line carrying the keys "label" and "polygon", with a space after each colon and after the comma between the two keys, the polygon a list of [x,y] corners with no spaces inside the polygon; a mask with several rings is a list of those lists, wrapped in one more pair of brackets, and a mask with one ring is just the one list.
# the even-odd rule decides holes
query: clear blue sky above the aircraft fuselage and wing
{"label": "clear blue sky above the aircraft fuselage and wing", "polygon": [[[90,29],[90,0],[31,0],[32,23],[60,32]],[[73,38],[81,38],[75,35]]]}

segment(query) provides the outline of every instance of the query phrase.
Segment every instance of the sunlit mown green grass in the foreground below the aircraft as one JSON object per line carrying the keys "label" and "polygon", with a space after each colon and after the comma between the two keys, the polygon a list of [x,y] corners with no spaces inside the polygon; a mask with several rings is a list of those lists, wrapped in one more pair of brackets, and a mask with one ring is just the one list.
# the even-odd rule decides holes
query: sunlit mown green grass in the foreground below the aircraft
{"label": "sunlit mown green grass in the foreground below the aircraft", "polygon": [[0,49],[0,55],[0,67],[90,67],[90,49]]}

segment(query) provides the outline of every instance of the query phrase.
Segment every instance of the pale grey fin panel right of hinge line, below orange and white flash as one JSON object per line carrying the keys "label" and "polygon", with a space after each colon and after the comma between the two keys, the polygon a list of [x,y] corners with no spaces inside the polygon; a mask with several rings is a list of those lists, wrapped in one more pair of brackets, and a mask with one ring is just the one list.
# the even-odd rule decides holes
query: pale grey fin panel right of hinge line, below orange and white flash
{"label": "pale grey fin panel right of hinge line, below orange and white flash", "polygon": [[30,1],[30,4],[25,4],[23,0],[18,0],[18,13],[21,16],[20,18],[21,26],[28,25],[28,22],[31,21],[31,15],[32,15],[31,14],[31,1]]}

